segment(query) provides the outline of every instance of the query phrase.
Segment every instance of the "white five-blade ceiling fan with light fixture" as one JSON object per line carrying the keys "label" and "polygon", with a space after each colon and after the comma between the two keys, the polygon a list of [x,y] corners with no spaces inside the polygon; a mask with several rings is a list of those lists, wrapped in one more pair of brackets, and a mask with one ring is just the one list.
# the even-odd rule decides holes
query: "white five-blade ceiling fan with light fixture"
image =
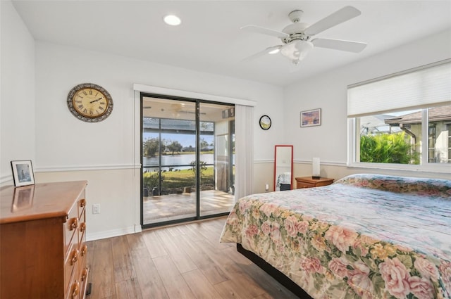
{"label": "white five-blade ceiling fan with light fixture", "polygon": [[280,52],[283,56],[290,59],[292,63],[297,65],[299,61],[302,61],[302,59],[307,56],[314,46],[354,53],[359,53],[365,49],[366,44],[362,42],[351,42],[341,39],[311,39],[315,34],[321,33],[328,30],[330,27],[334,27],[360,15],[360,11],[357,8],[345,6],[313,25],[299,22],[303,13],[304,12],[300,10],[289,13],[288,18],[292,20],[292,24],[283,28],[282,31],[272,30],[257,25],[246,25],[241,27],[241,30],[278,37],[283,42],[281,45],[270,46],[263,51],[248,57],[246,60],[257,58],[265,54]]}

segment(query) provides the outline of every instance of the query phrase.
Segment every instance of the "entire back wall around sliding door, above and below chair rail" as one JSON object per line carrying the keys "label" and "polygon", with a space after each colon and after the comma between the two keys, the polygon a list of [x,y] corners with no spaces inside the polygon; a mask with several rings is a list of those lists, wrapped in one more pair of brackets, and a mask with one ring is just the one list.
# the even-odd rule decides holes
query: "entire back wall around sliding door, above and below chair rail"
{"label": "entire back wall around sliding door, above and below chair rail", "polygon": [[[140,224],[134,83],[256,101],[255,123],[271,111],[275,125],[256,132],[255,158],[271,159],[280,140],[281,87],[47,42],[35,47],[37,182],[89,178],[87,200],[99,203],[101,213],[92,215],[88,205],[87,238],[123,234]],[[113,97],[113,113],[103,122],[81,122],[68,110],[68,92],[84,82],[101,85]]]}

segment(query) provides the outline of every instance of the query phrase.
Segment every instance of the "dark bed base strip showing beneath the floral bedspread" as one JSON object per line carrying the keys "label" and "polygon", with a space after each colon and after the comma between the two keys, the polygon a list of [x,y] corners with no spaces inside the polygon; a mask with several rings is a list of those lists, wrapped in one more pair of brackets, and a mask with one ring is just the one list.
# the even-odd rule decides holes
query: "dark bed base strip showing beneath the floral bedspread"
{"label": "dark bed base strip showing beneath the floral bedspread", "polygon": [[288,276],[286,276],[273,266],[269,265],[268,262],[266,262],[255,253],[252,253],[252,251],[243,248],[240,243],[237,243],[237,251],[254,262],[255,265],[263,269],[264,272],[271,275],[274,279],[276,279],[276,281],[285,286],[285,288],[288,288],[288,290],[297,295],[297,297],[302,299],[312,299],[309,294],[307,294],[300,286],[295,284],[294,281],[289,279]]}

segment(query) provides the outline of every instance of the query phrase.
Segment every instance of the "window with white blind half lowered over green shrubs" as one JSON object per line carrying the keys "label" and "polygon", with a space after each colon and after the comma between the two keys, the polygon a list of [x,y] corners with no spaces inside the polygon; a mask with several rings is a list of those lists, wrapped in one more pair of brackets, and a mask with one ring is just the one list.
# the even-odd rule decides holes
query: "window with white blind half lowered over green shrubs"
{"label": "window with white blind half lowered over green shrubs", "polygon": [[347,89],[348,165],[449,173],[451,59]]}

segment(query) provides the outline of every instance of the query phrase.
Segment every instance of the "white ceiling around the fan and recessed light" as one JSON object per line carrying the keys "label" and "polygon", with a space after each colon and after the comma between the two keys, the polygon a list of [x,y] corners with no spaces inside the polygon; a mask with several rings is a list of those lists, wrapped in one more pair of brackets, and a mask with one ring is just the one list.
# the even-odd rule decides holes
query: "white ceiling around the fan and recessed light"
{"label": "white ceiling around the fan and recessed light", "polygon": [[[13,0],[35,39],[180,68],[287,85],[451,28],[451,1],[23,1]],[[277,37],[240,30],[282,30],[288,13],[313,24],[343,6],[362,15],[316,37],[366,42],[361,53],[316,48],[297,68],[280,54],[242,61]],[[175,13],[182,25],[163,23]]]}

